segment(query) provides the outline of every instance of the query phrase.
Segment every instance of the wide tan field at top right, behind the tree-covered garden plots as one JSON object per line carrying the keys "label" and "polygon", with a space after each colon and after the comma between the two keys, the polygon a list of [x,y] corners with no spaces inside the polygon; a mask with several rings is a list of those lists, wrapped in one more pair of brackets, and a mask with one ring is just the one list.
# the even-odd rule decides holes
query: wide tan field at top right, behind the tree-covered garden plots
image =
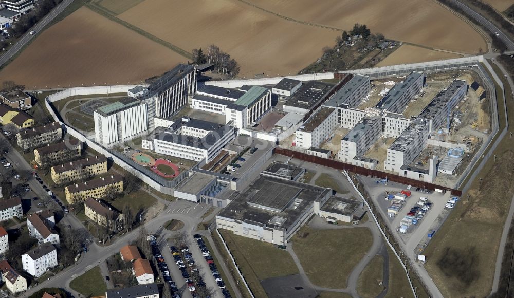
{"label": "wide tan field at top right, behind the tree-covered garden plots", "polygon": [[343,30],[355,23],[366,24],[387,38],[431,48],[469,54],[487,49],[482,35],[435,1],[325,0],[316,5],[310,0],[247,1],[295,20]]}

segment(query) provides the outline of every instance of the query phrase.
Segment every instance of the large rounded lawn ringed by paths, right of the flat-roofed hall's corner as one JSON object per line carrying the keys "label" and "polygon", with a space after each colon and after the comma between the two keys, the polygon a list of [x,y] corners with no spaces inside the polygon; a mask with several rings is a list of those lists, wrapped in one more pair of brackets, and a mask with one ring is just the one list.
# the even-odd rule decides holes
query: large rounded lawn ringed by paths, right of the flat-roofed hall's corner
{"label": "large rounded lawn ringed by paths, right of the flat-roofed hall's corner", "polygon": [[304,226],[292,242],[313,284],[342,289],[352,269],[370,249],[373,237],[368,228],[313,230]]}

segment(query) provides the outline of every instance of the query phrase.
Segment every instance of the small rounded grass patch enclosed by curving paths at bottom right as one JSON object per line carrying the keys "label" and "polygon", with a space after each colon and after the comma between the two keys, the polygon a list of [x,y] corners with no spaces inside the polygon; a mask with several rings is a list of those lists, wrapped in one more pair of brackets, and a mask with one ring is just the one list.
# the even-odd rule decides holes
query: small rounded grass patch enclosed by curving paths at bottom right
{"label": "small rounded grass patch enclosed by curving paths at bottom right", "polygon": [[380,294],[384,286],[379,285],[383,281],[384,258],[381,255],[373,257],[370,263],[360,273],[357,283],[357,293],[363,298],[373,298]]}

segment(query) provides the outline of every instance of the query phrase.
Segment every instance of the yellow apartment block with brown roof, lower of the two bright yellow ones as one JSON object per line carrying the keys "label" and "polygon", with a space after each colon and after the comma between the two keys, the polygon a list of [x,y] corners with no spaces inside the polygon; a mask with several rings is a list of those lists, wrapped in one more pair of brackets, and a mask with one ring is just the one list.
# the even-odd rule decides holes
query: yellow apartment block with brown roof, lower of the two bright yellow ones
{"label": "yellow apartment block with brown roof, lower of the two bright yellow ones", "polygon": [[123,192],[123,177],[115,174],[104,178],[94,179],[83,183],[68,185],[64,188],[66,200],[85,200],[87,197],[102,198],[109,192]]}

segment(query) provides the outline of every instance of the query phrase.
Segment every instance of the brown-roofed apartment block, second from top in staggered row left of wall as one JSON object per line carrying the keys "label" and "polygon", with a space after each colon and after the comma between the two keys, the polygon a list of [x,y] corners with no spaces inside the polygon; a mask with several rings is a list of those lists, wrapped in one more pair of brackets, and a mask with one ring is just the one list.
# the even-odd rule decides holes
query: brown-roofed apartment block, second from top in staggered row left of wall
{"label": "brown-roofed apartment block, second from top in staggered row left of wall", "polygon": [[82,154],[82,142],[78,140],[47,144],[34,150],[34,160],[39,166],[48,166],[78,157]]}

